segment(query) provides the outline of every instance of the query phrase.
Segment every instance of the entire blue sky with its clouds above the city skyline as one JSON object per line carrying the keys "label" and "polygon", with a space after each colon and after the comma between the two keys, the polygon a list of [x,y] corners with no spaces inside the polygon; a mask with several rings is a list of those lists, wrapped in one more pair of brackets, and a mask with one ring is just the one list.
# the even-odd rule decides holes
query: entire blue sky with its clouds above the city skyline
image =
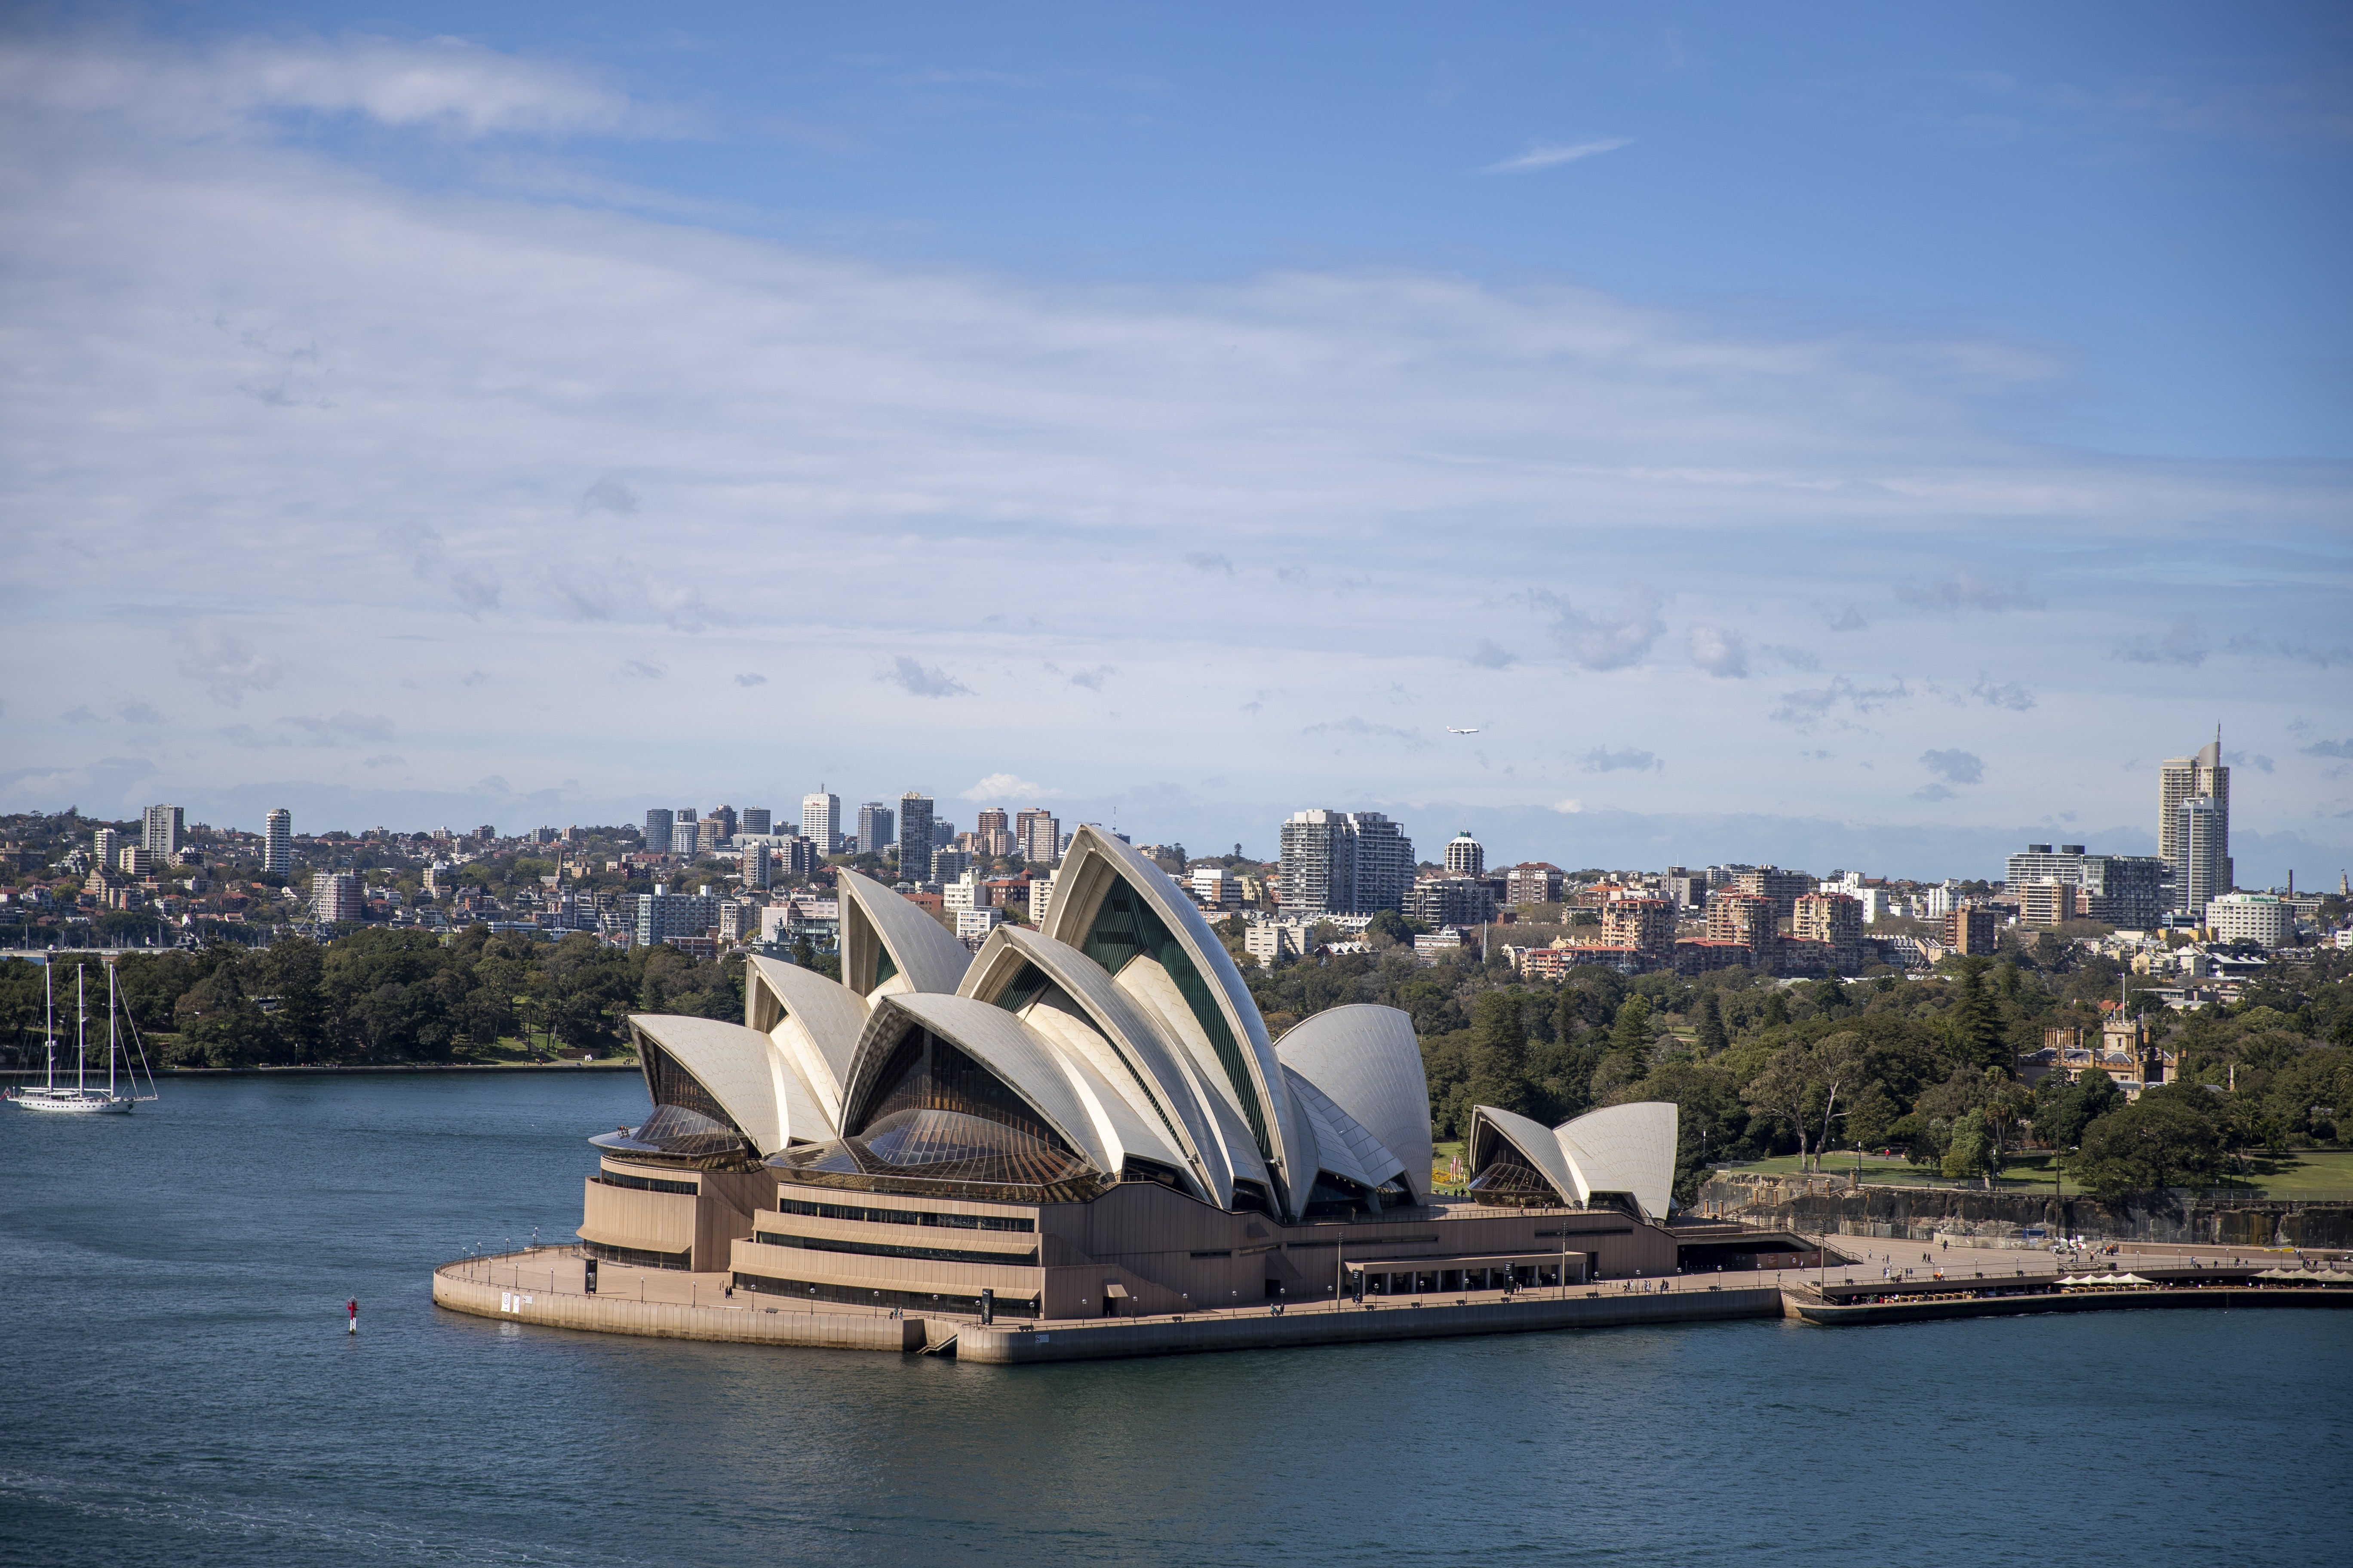
{"label": "entire blue sky with its clouds above the city skyline", "polygon": [[0,804],[2353,860],[2341,12],[1261,9],[19,16]]}

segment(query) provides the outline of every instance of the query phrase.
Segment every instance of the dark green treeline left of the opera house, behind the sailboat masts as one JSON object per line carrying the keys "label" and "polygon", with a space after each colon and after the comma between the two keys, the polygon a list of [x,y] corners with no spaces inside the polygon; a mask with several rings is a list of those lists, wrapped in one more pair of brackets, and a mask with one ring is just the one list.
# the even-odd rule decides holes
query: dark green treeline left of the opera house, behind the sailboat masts
{"label": "dark green treeline left of the opera house, behind the sailboat masts", "polygon": [[[94,1039],[106,1030],[96,959],[56,961],[59,1039],[73,1039],[75,969],[89,969]],[[593,936],[560,943],[473,926],[442,945],[426,931],[355,931],[332,943],[214,945],[125,954],[122,997],[158,1039],[160,1065],[438,1063],[501,1039],[607,1051],[628,1013],[744,1018],[744,961],[654,945],[619,952]],[[0,964],[0,1030],[40,1058],[38,964]]]}

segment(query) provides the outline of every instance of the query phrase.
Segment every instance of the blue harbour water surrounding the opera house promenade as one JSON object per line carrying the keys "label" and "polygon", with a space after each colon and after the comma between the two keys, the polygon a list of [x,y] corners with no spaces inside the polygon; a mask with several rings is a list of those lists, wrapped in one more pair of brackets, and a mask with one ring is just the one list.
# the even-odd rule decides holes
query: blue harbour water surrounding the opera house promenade
{"label": "blue harbour water surrounding the opera house promenade", "polygon": [[[1699,1324],[1047,1368],[435,1312],[633,1074],[0,1112],[5,1563],[2344,1563],[2353,1316]],[[344,1302],[360,1298],[360,1333]]]}

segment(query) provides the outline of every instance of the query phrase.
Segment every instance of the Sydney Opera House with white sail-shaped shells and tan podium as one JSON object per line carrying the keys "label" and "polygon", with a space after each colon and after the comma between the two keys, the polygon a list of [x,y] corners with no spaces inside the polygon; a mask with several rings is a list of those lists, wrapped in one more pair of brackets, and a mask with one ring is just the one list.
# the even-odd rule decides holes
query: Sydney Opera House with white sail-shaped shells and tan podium
{"label": "Sydney Opera House with white sail-shaped shells and tan podium", "polygon": [[652,1112],[593,1138],[593,1255],[1012,1319],[1673,1272],[1673,1105],[1480,1107],[1471,1197],[1435,1201],[1412,1020],[1268,1039],[1193,903],[1094,827],[1045,931],[976,954],[854,872],[840,905],[842,980],[755,957],[741,1025],[631,1020]]}

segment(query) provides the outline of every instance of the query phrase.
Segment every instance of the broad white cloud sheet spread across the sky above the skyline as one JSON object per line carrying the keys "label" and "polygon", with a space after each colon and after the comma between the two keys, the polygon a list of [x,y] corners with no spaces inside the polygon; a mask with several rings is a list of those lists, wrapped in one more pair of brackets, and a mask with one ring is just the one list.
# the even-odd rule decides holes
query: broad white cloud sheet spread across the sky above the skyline
{"label": "broad white cloud sheet spread across the sky above the skyline", "polygon": [[[1640,783],[1720,809],[1725,778],[1786,766],[1772,719],[1871,726],[1885,757],[1951,741],[1911,733],[1929,717],[1892,675],[1755,689],[1812,658],[1760,637],[1821,637],[1847,672],[1984,658],[1922,642],[1892,583],[1939,614],[2066,607],[2002,625],[2035,715],[2068,715],[2038,741],[2049,769],[2169,755],[2151,736],[2221,663],[2165,639],[2191,614],[2268,628],[2282,715],[2341,708],[2322,661],[2353,583],[2315,541],[2344,475],[2012,435],[2071,386],[2066,346],[1760,327],[1527,273],[1016,277],[781,244],[774,214],[725,233],[515,200],[447,143],[539,136],[546,167],[593,174],[602,150],[562,136],[645,122],[595,78],[473,45],[14,35],[0,73],[0,602],[49,661],[38,715],[9,715],[7,804],[71,804],[35,792],[136,731],[56,715],[136,691],[191,783],[341,766],[214,724],[351,710],[419,776],[499,769],[525,799],[595,776],[635,816],[741,766],[729,672],[765,670],[795,733],[826,736],[795,766],[861,795],[1019,755],[1132,780],[1214,757],[1247,802],[1508,778],[1544,799],[1598,736],[1673,715],[1711,766]],[[2094,564],[2198,559],[2214,517],[2261,581]],[[1746,639],[1694,663],[1671,602]],[[1882,642],[1904,651],[1864,656]],[[1748,682],[1708,679],[1739,656]],[[1527,701],[1480,738],[1489,769],[1407,741],[1475,715],[1499,668]],[[1972,710],[2024,696],[1988,679]],[[247,712],[188,719],[212,703]],[[894,729],[911,712],[918,736]],[[642,722],[678,743],[616,759],[614,724]],[[2035,820],[2035,776],[1988,757],[1974,804]],[[2311,771],[2266,780],[2278,809],[2318,804]],[[1894,773],[1821,769],[1807,809],[1901,809],[1918,773]],[[2137,788],[2113,785],[2129,820]]]}

